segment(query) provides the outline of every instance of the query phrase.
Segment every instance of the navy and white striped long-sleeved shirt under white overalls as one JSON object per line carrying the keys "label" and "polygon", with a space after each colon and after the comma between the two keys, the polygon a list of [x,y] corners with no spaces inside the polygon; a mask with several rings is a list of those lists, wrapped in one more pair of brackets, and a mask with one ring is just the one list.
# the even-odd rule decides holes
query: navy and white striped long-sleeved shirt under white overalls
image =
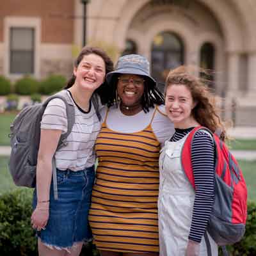
{"label": "navy and white striped long-sleeved shirt under white overalls", "polygon": [[[192,129],[175,129],[170,141],[179,141]],[[197,131],[191,154],[196,191],[189,239],[200,243],[214,203],[214,144],[211,136]]]}

